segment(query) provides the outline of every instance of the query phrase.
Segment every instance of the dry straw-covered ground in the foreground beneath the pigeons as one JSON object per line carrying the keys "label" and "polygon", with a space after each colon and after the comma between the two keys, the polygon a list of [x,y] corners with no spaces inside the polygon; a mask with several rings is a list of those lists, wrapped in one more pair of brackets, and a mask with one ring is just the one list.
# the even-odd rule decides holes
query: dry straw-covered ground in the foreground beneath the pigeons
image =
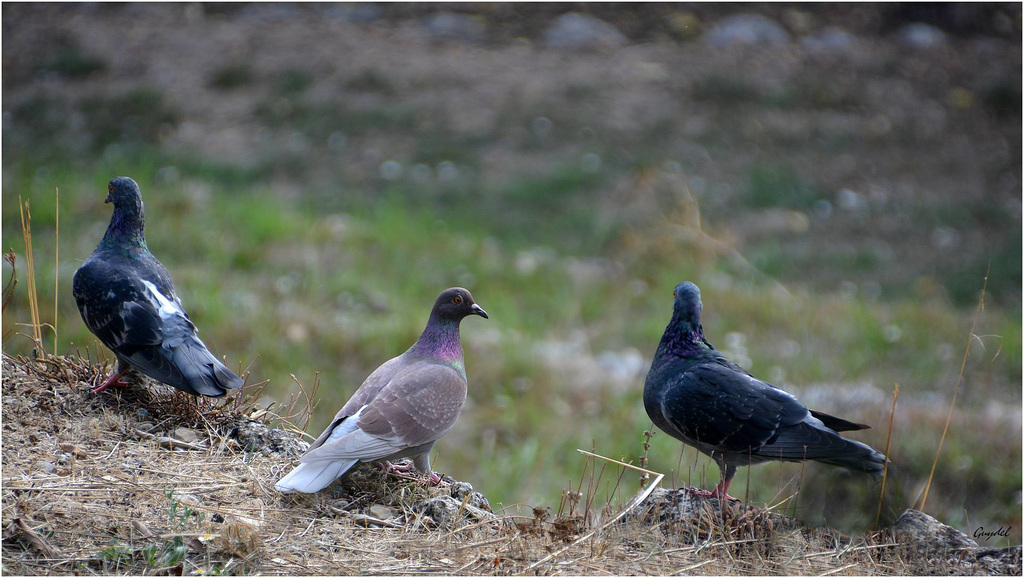
{"label": "dry straw-covered ground in the foreground beneath the pigeons", "polygon": [[263,410],[228,400],[201,412],[148,380],[88,395],[102,371],[71,358],[4,356],[6,574],[921,571],[886,532],[850,538],[769,509],[723,510],[716,500],[700,501],[689,519],[674,518],[668,502],[601,503],[596,460],[591,483],[584,486],[585,471],[570,486],[577,503],[554,520],[545,507],[488,513],[467,497],[456,522],[444,523],[422,506],[444,489],[376,467],[316,495],[286,496],[273,483],[297,451],[246,447],[233,434],[242,418],[230,408]]}

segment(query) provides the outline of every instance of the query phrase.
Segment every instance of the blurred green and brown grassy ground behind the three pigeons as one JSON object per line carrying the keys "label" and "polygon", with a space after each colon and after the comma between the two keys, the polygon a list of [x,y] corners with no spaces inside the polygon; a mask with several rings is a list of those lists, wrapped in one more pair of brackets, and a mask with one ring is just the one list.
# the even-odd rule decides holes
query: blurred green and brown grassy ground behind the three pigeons
{"label": "blurred green and brown grassy ground behind the three pigeons", "polygon": [[[32,348],[20,197],[56,352],[112,359],[71,280],[128,175],[210,348],[267,402],[318,372],[314,436],[468,287],[490,319],[463,324],[435,467],[557,508],[577,448],[642,455],[689,280],[712,343],[873,425],[853,438],[885,448],[899,384],[884,517],[928,479],[971,341],[926,510],[1019,544],[1021,126],[1019,4],[4,3],[3,348]],[[648,457],[718,480],[664,434]],[[598,504],[636,491],[615,474]],[[770,464],[732,490],[853,531],[879,484]]]}

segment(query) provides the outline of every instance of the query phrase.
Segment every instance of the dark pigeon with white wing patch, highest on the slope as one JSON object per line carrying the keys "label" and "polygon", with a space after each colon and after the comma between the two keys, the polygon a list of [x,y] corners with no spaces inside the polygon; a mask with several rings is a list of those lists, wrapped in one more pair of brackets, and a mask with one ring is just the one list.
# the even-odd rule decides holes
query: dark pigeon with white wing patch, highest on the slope
{"label": "dark pigeon with white wing patch, highest on the slope", "polygon": [[111,223],[73,283],[85,326],[118,358],[118,370],[92,393],[125,385],[120,378],[133,367],[194,396],[219,398],[241,386],[200,340],[171,276],[146,247],[138,184],[119,176],[106,191]]}

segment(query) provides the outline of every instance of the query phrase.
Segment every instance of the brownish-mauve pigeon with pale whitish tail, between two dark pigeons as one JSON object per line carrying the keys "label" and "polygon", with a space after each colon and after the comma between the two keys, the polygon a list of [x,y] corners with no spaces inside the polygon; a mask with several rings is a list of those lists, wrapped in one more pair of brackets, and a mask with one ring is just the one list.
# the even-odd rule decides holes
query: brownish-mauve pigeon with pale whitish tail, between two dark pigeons
{"label": "brownish-mauve pigeon with pale whitish tail, between two dark pigeons", "polygon": [[331,425],[302,456],[301,463],[274,485],[283,493],[311,494],[341,478],[358,461],[412,458],[430,471],[430,448],[455,425],[466,403],[466,366],[459,324],[470,315],[487,319],[462,287],[445,289],[434,301],[427,327],[406,353],[378,367],[359,385]]}

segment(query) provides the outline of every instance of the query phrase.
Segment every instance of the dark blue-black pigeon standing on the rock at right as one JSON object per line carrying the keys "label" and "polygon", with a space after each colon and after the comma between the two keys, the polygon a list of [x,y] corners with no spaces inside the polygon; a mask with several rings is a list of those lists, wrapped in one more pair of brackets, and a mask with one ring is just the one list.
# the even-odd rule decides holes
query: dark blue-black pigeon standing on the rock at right
{"label": "dark blue-black pigeon standing on the rock at right", "polygon": [[736,467],[771,460],[815,460],[876,476],[886,456],[838,431],[865,429],[811,411],[796,398],[752,376],[705,339],[700,290],[681,283],[672,321],[665,329],[643,389],[654,424],[709,455],[722,469],[707,497],[729,496]]}

